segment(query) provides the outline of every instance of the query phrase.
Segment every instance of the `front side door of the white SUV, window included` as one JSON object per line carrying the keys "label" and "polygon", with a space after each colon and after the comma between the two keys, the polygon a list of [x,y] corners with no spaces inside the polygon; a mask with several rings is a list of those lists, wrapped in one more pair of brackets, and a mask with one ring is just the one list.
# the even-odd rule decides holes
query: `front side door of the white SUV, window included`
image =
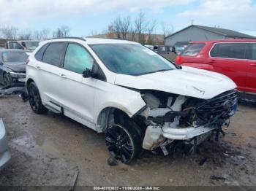
{"label": "front side door of the white SUV, window included", "polygon": [[59,101],[64,114],[89,128],[94,122],[94,84],[96,79],[84,78],[83,71],[92,69],[94,59],[85,47],[69,43],[63,68],[59,71]]}

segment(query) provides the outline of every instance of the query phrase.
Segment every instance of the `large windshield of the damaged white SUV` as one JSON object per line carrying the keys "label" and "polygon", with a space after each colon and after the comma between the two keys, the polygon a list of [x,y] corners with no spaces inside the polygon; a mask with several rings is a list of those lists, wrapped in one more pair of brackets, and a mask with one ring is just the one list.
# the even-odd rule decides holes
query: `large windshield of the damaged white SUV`
{"label": "large windshield of the damaged white SUV", "polygon": [[105,66],[118,74],[143,75],[176,69],[156,52],[140,44],[91,44]]}

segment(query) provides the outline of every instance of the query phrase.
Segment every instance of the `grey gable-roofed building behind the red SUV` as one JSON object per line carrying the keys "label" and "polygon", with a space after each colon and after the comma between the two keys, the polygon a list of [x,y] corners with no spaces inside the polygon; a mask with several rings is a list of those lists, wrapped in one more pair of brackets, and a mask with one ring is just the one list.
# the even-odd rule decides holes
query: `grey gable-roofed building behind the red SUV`
{"label": "grey gable-roofed building behind the red SUV", "polygon": [[225,28],[191,25],[181,31],[165,37],[165,45],[174,46],[176,43],[186,44],[190,41],[213,39],[255,39],[255,36],[242,34]]}

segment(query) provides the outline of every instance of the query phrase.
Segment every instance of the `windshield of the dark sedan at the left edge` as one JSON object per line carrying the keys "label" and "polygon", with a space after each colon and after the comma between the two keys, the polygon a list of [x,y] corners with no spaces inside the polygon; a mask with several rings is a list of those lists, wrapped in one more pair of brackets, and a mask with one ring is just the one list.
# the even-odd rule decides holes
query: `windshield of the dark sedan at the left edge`
{"label": "windshield of the dark sedan at the left edge", "polygon": [[29,52],[2,52],[4,62],[26,62],[29,58]]}

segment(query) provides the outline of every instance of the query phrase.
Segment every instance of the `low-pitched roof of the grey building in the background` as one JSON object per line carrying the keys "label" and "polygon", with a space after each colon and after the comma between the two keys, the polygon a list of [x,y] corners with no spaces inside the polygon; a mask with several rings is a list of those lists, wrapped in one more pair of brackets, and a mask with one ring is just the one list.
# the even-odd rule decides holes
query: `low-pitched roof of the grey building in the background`
{"label": "low-pitched roof of the grey building in the background", "polygon": [[210,32],[215,33],[215,34],[222,34],[223,36],[228,36],[228,37],[250,38],[250,39],[256,38],[255,36],[250,36],[248,34],[243,34],[243,33],[240,33],[238,31],[233,31],[233,30],[230,30],[230,29],[209,27],[209,26],[191,25],[191,26],[187,26],[186,28],[181,29],[180,31],[177,31],[176,33],[173,33],[173,34],[170,34],[169,36],[166,36],[165,39],[170,37],[170,36],[173,36],[175,34],[178,34],[179,32],[184,31],[184,30],[186,30],[187,28],[190,28],[190,27],[200,28],[200,29],[203,29],[205,31],[210,31]]}

